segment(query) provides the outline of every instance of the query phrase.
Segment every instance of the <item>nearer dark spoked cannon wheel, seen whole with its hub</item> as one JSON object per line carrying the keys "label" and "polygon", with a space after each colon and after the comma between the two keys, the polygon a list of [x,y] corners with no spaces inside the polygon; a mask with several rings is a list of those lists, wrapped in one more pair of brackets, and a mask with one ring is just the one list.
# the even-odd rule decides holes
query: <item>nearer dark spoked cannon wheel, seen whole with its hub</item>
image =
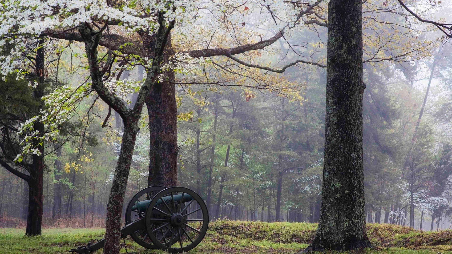
{"label": "nearer dark spoked cannon wheel, seen whole with its hub", "polygon": [[[179,204],[174,195],[188,194],[192,199],[187,204]],[[162,213],[155,207],[163,197],[171,197],[169,212]],[[198,212],[201,211],[201,212]],[[158,215],[158,216],[157,216]],[[163,215],[163,218],[160,216]],[[155,194],[146,210],[146,230],[152,243],[166,252],[183,253],[196,247],[204,238],[209,225],[206,204],[194,191],[183,187],[166,188]]]}

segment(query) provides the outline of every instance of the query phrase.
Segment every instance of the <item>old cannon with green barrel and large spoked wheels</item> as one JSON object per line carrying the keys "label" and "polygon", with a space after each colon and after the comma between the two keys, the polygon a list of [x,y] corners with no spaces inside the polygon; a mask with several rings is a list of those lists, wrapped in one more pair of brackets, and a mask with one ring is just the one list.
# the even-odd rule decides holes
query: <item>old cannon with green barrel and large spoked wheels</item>
{"label": "old cannon with green barrel and large spoked wheels", "polygon": [[[194,191],[183,187],[150,186],[135,194],[127,205],[121,238],[130,235],[146,249],[183,253],[196,247],[209,224],[206,204]],[[69,252],[90,254],[104,247],[98,240]]]}

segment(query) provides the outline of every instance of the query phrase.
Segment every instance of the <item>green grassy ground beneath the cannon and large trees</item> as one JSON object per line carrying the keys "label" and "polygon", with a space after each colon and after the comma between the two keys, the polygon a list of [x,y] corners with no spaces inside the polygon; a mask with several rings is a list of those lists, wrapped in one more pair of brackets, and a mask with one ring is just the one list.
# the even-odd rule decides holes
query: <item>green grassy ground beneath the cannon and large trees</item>
{"label": "green grassy ground beneath the cannon and large trees", "polygon": [[[315,234],[316,224],[287,222],[216,221],[193,254],[293,254],[304,249]],[[71,248],[101,239],[102,228],[48,228],[42,236],[24,237],[24,229],[0,228],[0,254],[67,253]],[[364,254],[452,254],[452,231],[421,232],[408,227],[368,224],[367,232],[376,249]],[[124,242],[121,253],[126,253]],[[161,254],[145,250],[127,238],[128,253]],[[98,250],[95,253],[102,253]],[[337,253],[337,252],[332,252]]]}

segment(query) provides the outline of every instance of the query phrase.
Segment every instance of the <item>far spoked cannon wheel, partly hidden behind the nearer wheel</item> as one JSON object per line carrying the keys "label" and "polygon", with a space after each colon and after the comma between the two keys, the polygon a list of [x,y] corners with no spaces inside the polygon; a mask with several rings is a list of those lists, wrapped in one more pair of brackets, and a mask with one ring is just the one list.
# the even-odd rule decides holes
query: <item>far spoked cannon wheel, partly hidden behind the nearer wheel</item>
{"label": "far spoked cannon wheel, partly hidden behind the nearer wheel", "polygon": [[[145,215],[144,212],[138,213],[136,211],[132,211],[132,206],[135,204],[135,202],[151,199],[152,197],[154,197],[154,195],[156,193],[158,193],[159,191],[161,191],[163,189],[165,189],[165,187],[163,187],[163,186],[149,186],[149,187],[142,189],[137,194],[135,194],[135,196],[133,196],[133,198],[130,200],[129,204],[127,205],[126,218],[125,218],[126,224],[128,222],[135,221],[139,218],[142,218]],[[155,247],[155,245],[152,244],[152,241],[149,239],[147,232],[146,232],[146,228],[138,230],[138,231],[130,234],[130,236],[132,237],[132,239],[135,242],[137,242],[137,244],[145,247],[146,249],[157,249]]]}

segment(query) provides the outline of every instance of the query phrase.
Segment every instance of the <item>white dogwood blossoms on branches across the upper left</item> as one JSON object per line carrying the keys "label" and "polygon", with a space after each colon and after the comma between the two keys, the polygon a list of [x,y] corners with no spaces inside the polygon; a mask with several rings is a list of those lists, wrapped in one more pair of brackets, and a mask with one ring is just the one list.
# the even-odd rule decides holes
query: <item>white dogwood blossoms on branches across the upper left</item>
{"label": "white dogwood blossoms on branches across the upper left", "polygon": [[[171,33],[191,41],[202,37],[202,31],[212,31],[229,22],[253,29],[280,31],[290,37],[291,31],[303,24],[300,14],[306,7],[306,4],[295,7],[284,0],[130,0],[122,5],[111,5],[106,0],[5,0],[0,15],[0,76],[5,80],[7,75],[15,72],[17,79],[24,78],[23,74],[27,74],[33,64],[32,56],[46,38],[68,42],[75,38],[81,41],[78,31],[81,24],[97,27],[97,33],[109,34],[110,29],[114,29],[133,37],[135,33],[143,32],[152,36],[156,34],[159,24],[167,25],[174,21]],[[159,15],[165,22],[159,23]],[[127,42],[118,48],[124,47],[134,45]],[[111,51],[102,61],[111,57]],[[114,52],[125,57],[123,52]],[[130,66],[140,64],[149,68],[152,64],[146,55],[130,54],[127,57]],[[161,64],[160,69],[194,76],[209,61],[209,58],[175,53]],[[113,73],[118,73],[116,68],[117,65],[113,66]],[[163,79],[164,75],[160,74],[157,81],[163,82]],[[110,77],[104,85],[113,95],[130,103],[127,95],[136,93],[142,82],[112,80]],[[38,82],[31,80],[28,85],[36,89]],[[33,143],[42,145],[55,139],[58,127],[74,113],[73,105],[91,92],[91,84],[86,82],[73,87],[63,86],[45,96],[46,109],[19,128],[19,134],[24,137],[24,150],[16,160],[22,160],[27,153],[39,155],[40,151],[33,147]],[[44,133],[33,129],[36,122],[45,125]]]}

